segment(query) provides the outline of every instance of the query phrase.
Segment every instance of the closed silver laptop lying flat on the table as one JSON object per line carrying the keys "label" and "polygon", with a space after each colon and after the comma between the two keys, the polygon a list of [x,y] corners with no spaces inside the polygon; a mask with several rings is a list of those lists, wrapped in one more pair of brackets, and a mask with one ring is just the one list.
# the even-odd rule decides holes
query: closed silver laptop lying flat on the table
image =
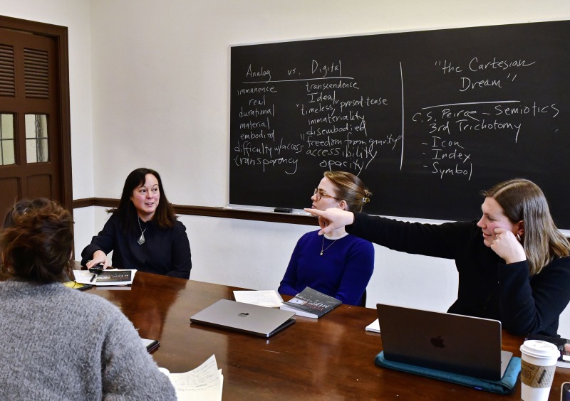
{"label": "closed silver laptop lying flat on the table", "polygon": [[270,337],[295,323],[295,312],[220,299],[190,317],[192,323]]}

